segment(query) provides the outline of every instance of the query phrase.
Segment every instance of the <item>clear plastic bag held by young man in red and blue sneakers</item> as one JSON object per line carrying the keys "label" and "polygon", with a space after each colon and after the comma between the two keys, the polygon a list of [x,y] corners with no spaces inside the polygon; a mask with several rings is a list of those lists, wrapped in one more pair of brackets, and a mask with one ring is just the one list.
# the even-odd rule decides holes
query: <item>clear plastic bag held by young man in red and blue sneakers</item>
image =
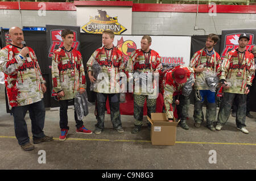
{"label": "clear plastic bag held by young man in red and blue sneakers", "polygon": [[86,91],[84,91],[82,94],[80,94],[80,92],[77,92],[75,96],[74,107],[78,120],[82,120],[85,116],[88,115],[88,106],[90,106],[90,103],[88,102]]}

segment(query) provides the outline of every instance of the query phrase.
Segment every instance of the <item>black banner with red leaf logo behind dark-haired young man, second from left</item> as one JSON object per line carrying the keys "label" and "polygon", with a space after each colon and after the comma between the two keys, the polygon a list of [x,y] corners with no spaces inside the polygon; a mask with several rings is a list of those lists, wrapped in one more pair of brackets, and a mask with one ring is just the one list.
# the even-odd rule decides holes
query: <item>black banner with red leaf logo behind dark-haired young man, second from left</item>
{"label": "black banner with red leaf logo behind dark-haired young man, second from left", "polygon": [[[61,31],[64,29],[68,29],[74,32],[74,39],[72,47],[74,49],[79,50],[80,45],[80,27],[73,26],[54,26],[54,25],[46,25],[46,37],[47,37],[47,53],[48,53],[48,61],[49,61],[49,69],[52,68],[52,54],[59,47],[63,47],[63,40],[61,38]],[[59,103],[57,102],[57,93],[52,89],[52,76],[49,78],[49,89],[51,90],[51,107],[59,107]]]}

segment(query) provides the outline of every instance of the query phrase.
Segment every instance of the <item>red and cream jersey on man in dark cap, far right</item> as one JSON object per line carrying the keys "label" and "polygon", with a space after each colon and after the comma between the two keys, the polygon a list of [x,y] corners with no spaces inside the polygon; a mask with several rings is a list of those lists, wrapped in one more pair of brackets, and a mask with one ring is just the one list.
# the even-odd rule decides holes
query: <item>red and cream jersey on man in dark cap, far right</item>
{"label": "red and cream jersey on man in dark cap, far right", "polygon": [[243,53],[234,49],[228,52],[221,64],[220,79],[231,83],[224,92],[245,94],[246,85],[251,86],[254,78],[254,56],[247,50]]}

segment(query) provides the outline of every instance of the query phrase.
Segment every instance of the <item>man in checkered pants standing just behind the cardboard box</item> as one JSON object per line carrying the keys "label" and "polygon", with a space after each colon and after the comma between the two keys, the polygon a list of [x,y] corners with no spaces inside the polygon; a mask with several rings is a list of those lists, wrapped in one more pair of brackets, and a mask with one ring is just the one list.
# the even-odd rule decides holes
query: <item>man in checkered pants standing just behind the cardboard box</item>
{"label": "man in checkered pants standing just behind the cardboard box", "polygon": [[[137,49],[131,53],[127,62],[126,71],[129,73],[135,73],[135,71],[137,71],[146,76],[148,73],[150,75],[154,75],[154,73],[158,73],[158,71],[162,69],[161,57],[159,56],[158,52],[150,49],[151,41],[152,39],[148,35],[142,37],[141,49]],[[139,77],[144,77],[144,75],[139,75]],[[154,81],[152,82],[152,85],[154,86]],[[152,94],[152,92],[148,92],[148,90],[144,92],[142,91],[144,85],[139,85],[139,91],[136,91],[136,86],[137,83],[135,82],[135,91],[133,92],[135,127],[131,133],[138,133],[141,131],[145,99],[147,100],[147,115],[151,117],[151,113],[155,112],[157,95],[154,95],[154,92],[156,92],[156,89],[159,88],[158,85],[154,86],[154,91]],[[150,124],[148,125],[150,126]]]}

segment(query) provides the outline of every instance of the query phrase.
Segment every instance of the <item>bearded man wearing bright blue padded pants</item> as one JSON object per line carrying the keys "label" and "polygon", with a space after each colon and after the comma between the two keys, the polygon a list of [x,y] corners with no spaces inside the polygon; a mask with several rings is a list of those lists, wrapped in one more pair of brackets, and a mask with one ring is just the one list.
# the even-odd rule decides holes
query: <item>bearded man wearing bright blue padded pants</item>
{"label": "bearded man wearing bright blue padded pants", "polygon": [[[196,52],[189,64],[191,68],[195,71],[195,105],[194,105],[194,119],[195,119],[195,127],[199,128],[201,123],[204,120],[203,114],[203,102],[205,98],[207,99],[207,112],[206,112],[206,120],[207,127],[210,131],[215,131],[214,121],[216,117],[216,102],[215,102],[215,91],[210,91],[205,81],[205,72],[216,73],[220,68],[220,55],[215,52],[214,45],[217,44],[218,36],[209,34],[207,37],[207,41],[205,42],[205,48]],[[197,96],[199,95],[199,96]],[[200,97],[199,100],[197,97]]]}

